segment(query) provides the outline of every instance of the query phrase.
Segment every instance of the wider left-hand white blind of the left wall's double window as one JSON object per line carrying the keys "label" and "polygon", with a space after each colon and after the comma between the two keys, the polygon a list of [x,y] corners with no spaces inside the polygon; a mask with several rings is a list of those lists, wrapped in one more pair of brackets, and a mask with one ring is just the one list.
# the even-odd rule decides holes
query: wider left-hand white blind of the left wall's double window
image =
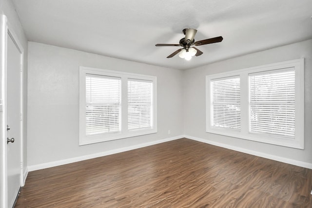
{"label": "wider left-hand white blind of the left wall's double window", "polygon": [[86,135],[120,131],[120,77],[86,75]]}

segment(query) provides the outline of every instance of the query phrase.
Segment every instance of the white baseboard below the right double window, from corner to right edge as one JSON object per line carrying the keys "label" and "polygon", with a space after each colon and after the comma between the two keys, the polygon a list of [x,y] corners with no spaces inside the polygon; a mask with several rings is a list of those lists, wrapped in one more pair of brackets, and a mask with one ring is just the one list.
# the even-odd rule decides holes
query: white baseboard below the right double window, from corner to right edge
{"label": "white baseboard below the right double window, from corner to right edge", "polygon": [[192,139],[192,140],[198,141],[198,142],[203,142],[203,143],[206,143],[206,144],[211,144],[211,145],[215,145],[215,146],[218,146],[218,147],[223,147],[223,148],[234,150],[234,151],[240,151],[240,152],[244,152],[244,153],[247,153],[247,154],[252,154],[252,155],[255,155],[255,156],[259,156],[259,157],[263,157],[263,158],[267,158],[267,159],[271,159],[271,160],[276,160],[276,161],[279,161],[279,162],[288,163],[288,164],[299,166],[299,167],[303,167],[303,168],[312,169],[312,163],[306,163],[306,162],[293,160],[293,159],[289,159],[289,158],[284,158],[284,157],[280,157],[280,156],[276,156],[276,155],[272,155],[272,154],[267,154],[267,153],[263,153],[263,152],[259,152],[259,151],[252,151],[252,150],[248,150],[248,149],[244,149],[244,148],[234,147],[232,145],[227,145],[227,144],[223,144],[223,143],[219,143],[219,142],[214,142],[214,141],[210,141],[210,140],[207,140],[207,139],[198,138],[198,137],[195,137],[195,136],[184,135],[184,137],[188,138],[188,139]]}

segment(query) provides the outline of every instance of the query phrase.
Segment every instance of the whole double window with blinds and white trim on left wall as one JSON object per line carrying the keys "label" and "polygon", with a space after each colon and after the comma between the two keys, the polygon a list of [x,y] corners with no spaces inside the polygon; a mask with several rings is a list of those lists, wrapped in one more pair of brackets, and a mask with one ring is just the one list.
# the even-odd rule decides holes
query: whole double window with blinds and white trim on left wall
{"label": "whole double window with blinds and white trim on left wall", "polygon": [[157,132],[155,76],[79,70],[79,145]]}

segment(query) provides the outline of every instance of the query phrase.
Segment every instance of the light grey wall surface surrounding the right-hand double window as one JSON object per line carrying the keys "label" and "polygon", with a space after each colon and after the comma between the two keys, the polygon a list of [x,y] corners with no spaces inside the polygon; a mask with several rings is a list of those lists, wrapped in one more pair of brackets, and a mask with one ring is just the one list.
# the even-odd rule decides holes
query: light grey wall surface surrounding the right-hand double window
{"label": "light grey wall surface surrounding the right-hand double window", "polygon": [[[205,121],[205,76],[269,63],[305,58],[305,150],[264,144],[244,139],[207,133]],[[312,165],[312,40],[294,43],[242,57],[216,62],[187,70],[184,73],[184,129],[185,134],[207,143],[219,143],[233,149],[273,155],[274,158]],[[287,160],[286,159],[286,160]],[[312,167],[312,166],[310,166]]]}

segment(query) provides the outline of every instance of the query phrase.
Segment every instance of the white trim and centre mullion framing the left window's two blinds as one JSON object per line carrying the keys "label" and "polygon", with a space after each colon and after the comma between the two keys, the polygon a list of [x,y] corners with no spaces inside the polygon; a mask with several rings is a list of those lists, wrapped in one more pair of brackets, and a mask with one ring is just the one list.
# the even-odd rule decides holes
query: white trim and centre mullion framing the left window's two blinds
{"label": "white trim and centre mullion framing the left window's two blinds", "polygon": [[[121,131],[106,133],[101,135],[86,136],[85,132],[85,102],[86,102],[86,83],[87,74],[121,77]],[[153,82],[153,124],[151,129],[138,131],[128,131],[128,78],[150,80]],[[79,146],[93,144],[98,142],[111,141],[116,139],[128,138],[133,136],[145,135],[157,132],[157,77],[149,75],[140,75],[134,73],[97,69],[91,67],[79,67]]]}

